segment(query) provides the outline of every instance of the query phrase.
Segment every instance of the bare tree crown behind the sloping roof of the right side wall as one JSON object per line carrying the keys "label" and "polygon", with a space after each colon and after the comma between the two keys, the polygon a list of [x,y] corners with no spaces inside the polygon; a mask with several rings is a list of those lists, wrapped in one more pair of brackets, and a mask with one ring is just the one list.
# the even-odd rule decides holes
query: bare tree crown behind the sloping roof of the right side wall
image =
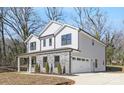
{"label": "bare tree crown behind the sloping roof of the right side wall", "polygon": [[97,39],[103,39],[107,30],[107,19],[99,8],[74,8],[76,17],[73,19],[77,26],[87,32],[90,32]]}

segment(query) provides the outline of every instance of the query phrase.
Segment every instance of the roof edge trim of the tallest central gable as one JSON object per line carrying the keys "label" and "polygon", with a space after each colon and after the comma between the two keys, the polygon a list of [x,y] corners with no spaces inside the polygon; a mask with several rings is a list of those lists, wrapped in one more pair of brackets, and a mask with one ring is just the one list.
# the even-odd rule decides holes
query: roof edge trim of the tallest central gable
{"label": "roof edge trim of the tallest central gable", "polygon": [[[61,27],[63,26],[62,23],[51,20],[51,21],[44,27],[44,29],[41,31],[41,33],[39,34],[39,37],[40,37],[41,35],[43,35],[43,34],[45,33],[45,31],[46,31],[52,24],[60,25],[59,28],[61,28]],[[59,30],[59,28],[58,28],[57,30]],[[51,31],[50,34],[54,34],[57,30]]]}

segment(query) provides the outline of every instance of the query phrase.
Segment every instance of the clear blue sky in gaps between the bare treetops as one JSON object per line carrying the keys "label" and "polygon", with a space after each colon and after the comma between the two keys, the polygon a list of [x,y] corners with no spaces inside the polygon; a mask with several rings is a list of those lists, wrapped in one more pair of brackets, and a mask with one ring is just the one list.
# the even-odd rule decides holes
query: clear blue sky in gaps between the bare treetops
{"label": "clear blue sky in gaps between the bare treetops", "polygon": [[[100,7],[100,9],[106,14],[108,24],[111,24],[112,28],[117,30],[123,28],[124,7]],[[35,11],[41,18],[46,19],[44,8],[35,8]],[[63,8],[63,12],[65,23],[74,24],[74,21],[71,19],[75,15],[73,8]]]}

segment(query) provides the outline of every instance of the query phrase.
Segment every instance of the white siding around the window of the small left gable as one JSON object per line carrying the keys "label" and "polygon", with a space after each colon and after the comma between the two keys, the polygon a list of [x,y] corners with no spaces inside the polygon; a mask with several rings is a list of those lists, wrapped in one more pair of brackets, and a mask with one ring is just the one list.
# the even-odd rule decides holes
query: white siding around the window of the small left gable
{"label": "white siding around the window of the small left gable", "polygon": [[[36,42],[36,50],[30,50],[30,43]],[[32,36],[31,39],[27,42],[27,53],[40,51],[40,40],[35,36]]]}

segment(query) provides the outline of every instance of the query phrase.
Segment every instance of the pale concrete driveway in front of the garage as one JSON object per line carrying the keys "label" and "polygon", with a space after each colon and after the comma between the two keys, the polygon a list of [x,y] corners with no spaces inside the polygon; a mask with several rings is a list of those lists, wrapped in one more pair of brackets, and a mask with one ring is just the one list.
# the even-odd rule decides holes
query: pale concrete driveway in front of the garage
{"label": "pale concrete driveway in front of the garage", "polygon": [[75,76],[63,76],[75,81],[76,85],[122,85],[124,73],[82,73]]}

